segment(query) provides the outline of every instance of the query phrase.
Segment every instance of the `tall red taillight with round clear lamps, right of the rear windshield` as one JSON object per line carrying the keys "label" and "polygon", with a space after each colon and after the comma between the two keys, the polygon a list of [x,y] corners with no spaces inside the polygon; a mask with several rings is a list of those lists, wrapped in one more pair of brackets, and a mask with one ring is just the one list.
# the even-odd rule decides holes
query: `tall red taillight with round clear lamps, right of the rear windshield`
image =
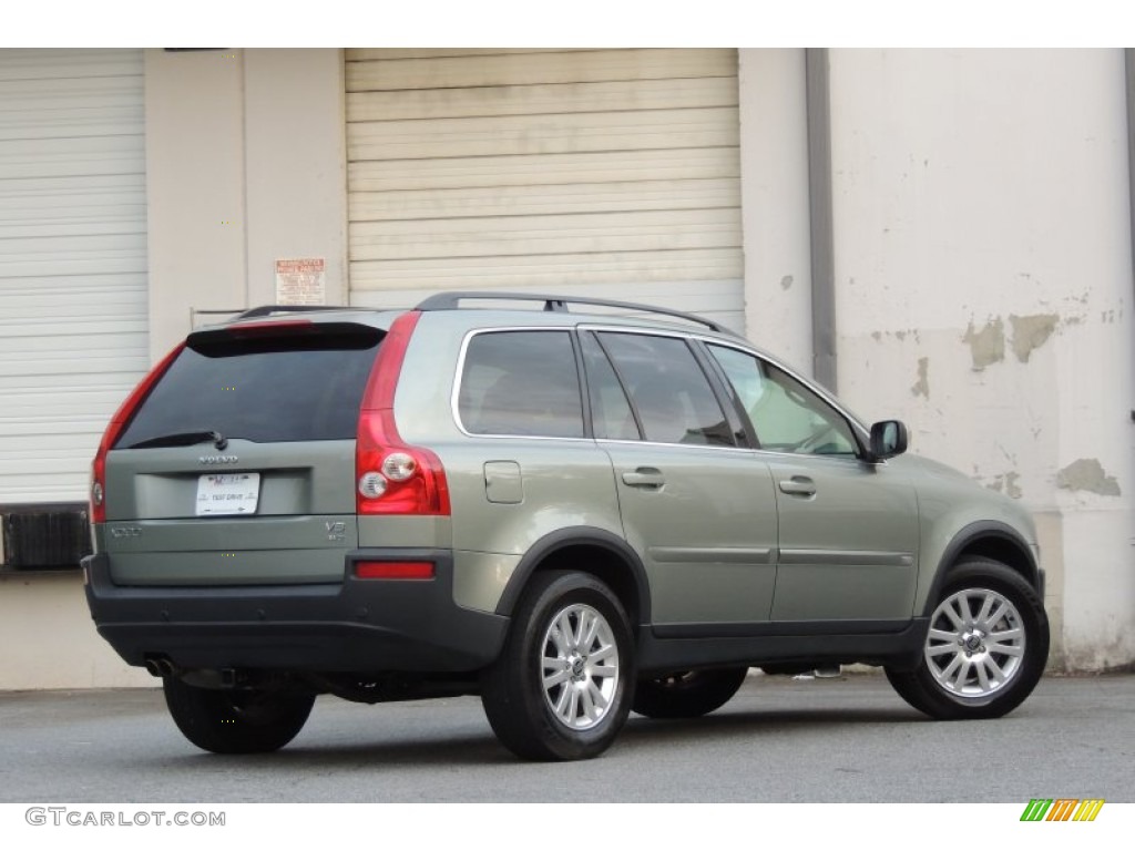
{"label": "tall red taillight with round clear lamps, right of the rear windshield", "polygon": [[440,458],[403,443],[394,422],[394,391],[419,317],[411,311],[394,320],[367,382],[355,443],[359,514],[449,514],[449,487]]}

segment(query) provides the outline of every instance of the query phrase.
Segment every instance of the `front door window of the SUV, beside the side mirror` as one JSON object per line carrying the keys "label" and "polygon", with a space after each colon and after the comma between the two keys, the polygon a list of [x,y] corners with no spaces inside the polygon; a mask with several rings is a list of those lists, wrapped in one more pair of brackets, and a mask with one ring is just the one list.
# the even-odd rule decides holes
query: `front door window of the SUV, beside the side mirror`
{"label": "front door window of the SUV, beside the side mirror", "polygon": [[855,455],[839,411],[783,370],[735,348],[709,346],[749,415],[763,449],[801,455]]}

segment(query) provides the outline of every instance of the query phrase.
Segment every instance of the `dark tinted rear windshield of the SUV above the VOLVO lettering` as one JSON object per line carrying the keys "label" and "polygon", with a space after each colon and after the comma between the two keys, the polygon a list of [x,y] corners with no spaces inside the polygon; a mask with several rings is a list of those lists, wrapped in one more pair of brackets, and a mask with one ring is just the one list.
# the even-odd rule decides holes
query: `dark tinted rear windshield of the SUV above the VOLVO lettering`
{"label": "dark tinted rear windshield of the SUV above the VOLVO lettering", "polygon": [[193,335],[115,447],[209,431],[258,444],[354,439],[382,336],[363,326],[250,338]]}

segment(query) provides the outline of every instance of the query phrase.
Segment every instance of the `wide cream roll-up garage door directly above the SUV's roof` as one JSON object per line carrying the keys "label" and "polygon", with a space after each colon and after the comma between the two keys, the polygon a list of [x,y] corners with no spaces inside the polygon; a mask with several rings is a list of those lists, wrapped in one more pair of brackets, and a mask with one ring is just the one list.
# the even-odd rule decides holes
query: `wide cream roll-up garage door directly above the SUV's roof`
{"label": "wide cream roll-up garage door directly above the SUV's roof", "polygon": [[350,50],[351,300],[642,301],[743,330],[733,50]]}

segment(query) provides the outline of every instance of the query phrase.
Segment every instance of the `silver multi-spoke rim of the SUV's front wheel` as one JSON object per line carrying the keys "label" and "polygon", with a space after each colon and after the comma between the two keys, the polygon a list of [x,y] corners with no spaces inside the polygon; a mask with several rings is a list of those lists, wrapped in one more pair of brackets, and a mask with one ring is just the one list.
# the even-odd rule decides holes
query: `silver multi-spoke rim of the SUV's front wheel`
{"label": "silver multi-spoke rim of the SUV's front wheel", "polygon": [[964,699],[986,698],[1012,682],[1024,663],[1020,613],[997,591],[957,591],[934,609],[924,655],[944,691]]}

